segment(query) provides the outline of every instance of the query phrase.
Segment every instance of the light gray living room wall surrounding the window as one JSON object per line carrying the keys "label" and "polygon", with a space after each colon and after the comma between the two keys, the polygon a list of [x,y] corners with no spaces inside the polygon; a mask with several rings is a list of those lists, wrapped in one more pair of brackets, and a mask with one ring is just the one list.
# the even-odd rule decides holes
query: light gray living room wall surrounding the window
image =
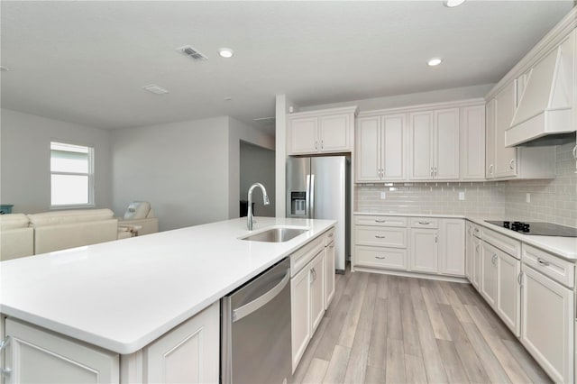
{"label": "light gray living room wall surrounding the window", "polygon": [[112,206],[111,133],[7,109],[1,111],[0,202],[14,213],[50,209],[50,142],[95,148],[95,206]]}

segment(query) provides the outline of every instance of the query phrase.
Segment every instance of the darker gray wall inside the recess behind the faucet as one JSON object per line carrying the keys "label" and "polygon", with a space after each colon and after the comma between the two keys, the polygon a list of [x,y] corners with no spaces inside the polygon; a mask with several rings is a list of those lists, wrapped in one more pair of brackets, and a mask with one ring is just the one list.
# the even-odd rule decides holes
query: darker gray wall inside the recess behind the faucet
{"label": "darker gray wall inside the recess behind the faucet", "polygon": [[266,148],[252,145],[248,142],[241,142],[241,189],[240,199],[246,200],[249,188],[253,183],[261,183],[267,189],[270,204],[265,206],[262,203],[261,188],[256,188],[252,192],[254,213],[258,216],[274,217],[275,211],[275,178],[274,161],[275,152]]}

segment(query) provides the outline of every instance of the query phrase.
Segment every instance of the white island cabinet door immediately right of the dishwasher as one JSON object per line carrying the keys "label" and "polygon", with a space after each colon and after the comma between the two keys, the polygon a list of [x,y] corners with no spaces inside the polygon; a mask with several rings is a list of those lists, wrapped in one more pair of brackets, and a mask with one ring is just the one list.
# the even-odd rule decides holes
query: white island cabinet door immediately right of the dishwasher
{"label": "white island cabinet door immediately right of the dishwasher", "polygon": [[292,370],[307,348],[310,329],[310,270],[303,268],[290,279],[290,329],[292,334]]}

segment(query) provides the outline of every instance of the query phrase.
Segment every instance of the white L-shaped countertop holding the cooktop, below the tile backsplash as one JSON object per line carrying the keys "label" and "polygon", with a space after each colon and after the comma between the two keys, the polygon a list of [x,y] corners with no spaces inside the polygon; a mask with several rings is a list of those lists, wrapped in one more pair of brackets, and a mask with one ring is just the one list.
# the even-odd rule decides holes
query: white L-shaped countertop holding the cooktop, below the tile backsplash
{"label": "white L-shaped countertop holding the cooktop, below the tile backsplash", "polygon": [[549,251],[563,259],[577,261],[577,237],[563,237],[563,236],[535,236],[499,227],[499,225],[486,223],[485,220],[503,220],[502,217],[479,217],[472,215],[415,215],[415,214],[397,214],[397,213],[382,213],[382,212],[354,212],[353,215],[379,215],[379,216],[407,216],[407,217],[446,217],[446,218],[462,218],[471,221],[472,223],[482,225],[495,232],[502,233],[508,237],[524,242],[534,247],[540,248],[544,251]]}

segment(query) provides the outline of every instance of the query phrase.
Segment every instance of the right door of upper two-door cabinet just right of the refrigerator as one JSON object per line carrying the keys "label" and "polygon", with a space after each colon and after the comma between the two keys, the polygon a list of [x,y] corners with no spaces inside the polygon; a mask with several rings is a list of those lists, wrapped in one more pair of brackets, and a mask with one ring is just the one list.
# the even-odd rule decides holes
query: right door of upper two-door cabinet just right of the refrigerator
{"label": "right door of upper two-door cabinet just right of the refrigerator", "polygon": [[405,171],[405,114],[382,117],[381,175],[385,181],[407,178]]}

